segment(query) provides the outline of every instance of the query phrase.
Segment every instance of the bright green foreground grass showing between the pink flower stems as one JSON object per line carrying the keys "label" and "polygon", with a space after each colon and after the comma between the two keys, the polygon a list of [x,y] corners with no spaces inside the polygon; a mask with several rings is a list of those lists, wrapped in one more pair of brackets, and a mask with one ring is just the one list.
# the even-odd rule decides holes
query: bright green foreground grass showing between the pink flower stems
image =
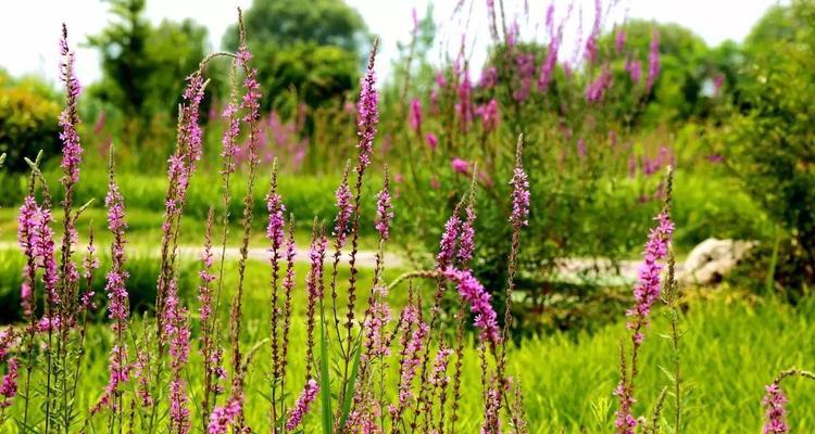
{"label": "bright green foreground grass showing between the pink flower stems", "polygon": [[[226,288],[235,283],[234,266],[229,266]],[[305,268],[298,266],[298,281],[302,282]],[[392,279],[398,270],[391,270]],[[347,277],[346,271],[341,278]],[[371,271],[362,272],[362,293],[369,288]],[[268,267],[252,261],[248,269],[244,302],[244,348],[260,342],[268,332]],[[188,299],[192,299],[186,288]],[[423,286],[429,298],[429,286]],[[403,306],[404,289],[391,293],[394,307]],[[329,298],[328,298],[329,299]],[[343,305],[340,296],[340,304]],[[362,305],[364,302],[360,302]],[[195,312],[195,303],[191,304]],[[302,386],[304,369],[304,299],[302,286],[296,290],[292,341],[289,349],[289,380],[291,395]],[[221,310],[226,319],[226,307]],[[806,299],[797,308],[774,301],[748,298],[730,290],[714,296],[695,296],[681,319],[687,330],[681,345],[682,380],[686,387],[686,432],[757,432],[762,423],[761,399],[763,386],[780,369],[797,366],[815,366],[815,344],[808,336],[815,333],[815,299]],[[138,321],[136,321],[138,324]],[[193,314],[195,323],[195,314]],[[135,326],[137,329],[140,326]],[[648,331],[641,353],[637,381],[637,413],[650,409],[667,378],[660,366],[669,362],[668,342],[661,337],[668,324],[663,311],[655,312],[655,321]],[[193,336],[197,335],[193,331]],[[223,328],[226,333],[226,327]],[[511,348],[509,373],[519,379],[525,390],[526,409],[535,433],[565,430],[567,433],[611,432],[616,404],[612,390],[617,382],[617,346],[628,335],[623,320],[601,328],[597,333],[554,334],[524,340]],[[106,358],[111,335],[102,324],[92,326],[89,333],[88,355],[83,366],[82,387],[77,406],[87,409],[99,397],[106,381]],[[198,403],[201,360],[196,349],[191,355],[188,378],[191,379],[192,398]],[[319,349],[316,349],[317,354]],[[267,345],[259,350],[253,368],[247,378],[248,421],[255,429],[265,426],[267,404],[266,371],[269,360]],[[464,368],[464,399],[460,432],[476,432],[481,420],[480,371],[473,345],[466,349]],[[794,432],[808,432],[815,426],[815,384],[792,379],[785,383],[790,398],[790,425]],[[288,400],[293,401],[289,396]],[[193,421],[196,412],[193,409]],[[673,412],[673,398],[668,396],[664,416]],[[20,408],[11,409],[18,416]],[[97,429],[103,426],[104,417],[97,418]],[[318,432],[318,406],[306,419],[306,432]],[[197,427],[197,425],[193,425]],[[262,431],[262,430],[261,430]]]}

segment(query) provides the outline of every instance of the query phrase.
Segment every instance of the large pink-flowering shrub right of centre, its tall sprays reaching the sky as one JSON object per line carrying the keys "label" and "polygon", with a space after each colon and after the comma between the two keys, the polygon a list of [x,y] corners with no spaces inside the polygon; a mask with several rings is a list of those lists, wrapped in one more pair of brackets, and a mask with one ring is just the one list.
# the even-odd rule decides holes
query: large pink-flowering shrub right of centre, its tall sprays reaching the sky
{"label": "large pink-flowering shrub right of centre, its tall sprays reaching the sky", "polygon": [[[484,242],[473,269],[488,288],[505,281],[510,270],[512,229],[501,224],[512,209],[512,186],[501,180],[514,170],[506,143],[524,133],[534,201],[525,219],[529,230],[522,235],[526,248],[517,258],[517,295],[525,303],[515,304],[514,315],[527,332],[552,322],[536,314],[544,305],[574,296],[559,281],[563,258],[609,258],[610,270],[601,271],[613,272],[618,259],[636,252],[634,240],[661,201],[656,174],[675,159],[664,131],[649,138],[637,128],[660,89],[660,33],[626,23],[603,33],[614,24],[615,3],[594,3],[584,23],[588,11],[578,12],[577,5],[542,2],[530,11],[536,5],[488,2],[492,40],[482,69],[468,63],[475,36],[463,36],[432,80],[413,77],[415,85],[398,95],[403,110],[391,110],[384,120],[405,143],[399,154],[404,162],[400,199],[415,216],[398,238],[432,245],[457,194],[475,176],[476,229]],[[468,21],[474,5],[481,7],[461,2],[451,21]],[[565,35],[574,28],[580,30]],[[421,37],[417,27],[414,38]],[[566,39],[576,42],[574,52],[564,48]],[[410,64],[406,69],[412,71]],[[597,275],[587,272],[581,283],[590,286]],[[493,295],[505,304],[500,293]],[[555,329],[569,327],[554,321]]]}

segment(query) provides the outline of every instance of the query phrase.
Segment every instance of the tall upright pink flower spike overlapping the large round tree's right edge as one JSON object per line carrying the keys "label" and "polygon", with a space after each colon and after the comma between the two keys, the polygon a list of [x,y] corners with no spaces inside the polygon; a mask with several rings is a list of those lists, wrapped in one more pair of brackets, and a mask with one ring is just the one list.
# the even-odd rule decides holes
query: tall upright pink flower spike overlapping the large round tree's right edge
{"label": "tall upright pink flower spike overlapping the large round tree's right edge", "polygon": [[374,48],[368,58],[368,69],[362,78],[362,90],[360,90],[360,103],[358,106],[358,132],[360,141],[359,150],[360,166],[358,173],[363,173],[371,165],[371,153],[374,151],[374,137],[376,136],[376,124],[379,122],[379,92],[376,90],[376,74],[374,62],[378,41],[374,41]]}

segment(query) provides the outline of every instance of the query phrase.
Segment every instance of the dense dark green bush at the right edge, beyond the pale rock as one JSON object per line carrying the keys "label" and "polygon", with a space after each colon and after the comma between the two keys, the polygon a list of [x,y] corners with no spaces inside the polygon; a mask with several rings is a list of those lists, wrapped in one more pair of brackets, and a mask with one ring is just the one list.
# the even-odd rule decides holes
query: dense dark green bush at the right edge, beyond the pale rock
{"label": "dense dark green bush at the right edge, beyond the pale rock", "polygon": [[[770,44],[767,35],[776,35]],[[801,288],[815,282],[815,3],[770,11],[745,51],[745,104],[724,128],[725,151],[745,190],[789,240],[779,281]]]}

